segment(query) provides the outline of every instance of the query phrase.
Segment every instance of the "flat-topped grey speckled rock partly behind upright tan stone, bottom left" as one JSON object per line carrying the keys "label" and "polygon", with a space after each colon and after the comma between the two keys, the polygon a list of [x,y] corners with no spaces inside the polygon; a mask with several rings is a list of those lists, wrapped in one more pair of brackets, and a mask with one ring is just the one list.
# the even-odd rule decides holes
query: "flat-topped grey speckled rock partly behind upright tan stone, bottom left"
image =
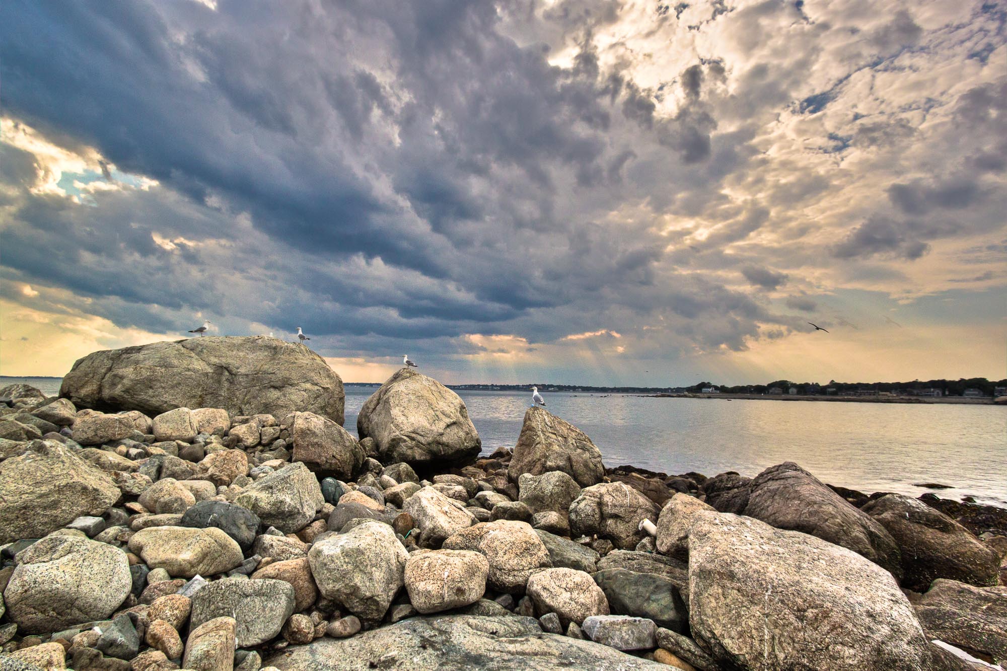
{"label": "flat-topped grey speckled rock partly behind upright tan stone, bottom left", "polygon": [[225,578],[206,583],[192,596],[189,629],[214,618],[232,617],[237,622],[238,647],[248,648],[278,635],[293,612],[294,587],[289,582]]}

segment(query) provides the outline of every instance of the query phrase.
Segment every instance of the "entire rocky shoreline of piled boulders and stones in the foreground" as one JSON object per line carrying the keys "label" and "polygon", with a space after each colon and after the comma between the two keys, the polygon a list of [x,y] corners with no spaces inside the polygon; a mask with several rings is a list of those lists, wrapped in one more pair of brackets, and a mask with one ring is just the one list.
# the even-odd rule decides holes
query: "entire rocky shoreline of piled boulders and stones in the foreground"
{"label": "entire rocky shoreline of piled boulders and stones in the foreground", "polygon": [[342,383],[274,339],[90,355],[0,390],[0,669],[989,669],[1007,511],[606,468],[530,408]]}

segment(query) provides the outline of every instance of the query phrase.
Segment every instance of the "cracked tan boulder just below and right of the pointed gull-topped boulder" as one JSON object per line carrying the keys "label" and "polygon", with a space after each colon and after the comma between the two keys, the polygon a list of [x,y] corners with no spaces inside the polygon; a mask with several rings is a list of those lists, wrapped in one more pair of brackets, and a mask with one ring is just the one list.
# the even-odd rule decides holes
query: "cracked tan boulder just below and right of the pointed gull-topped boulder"
{"label": "cracked tan boulder just below and right of the pointed gull-topped boulder", "polygon": [[570,504],[570,530],[575,536],[597,534],[630,550],[646,536],[640,522],[655,522],[660,514],[657,504],[628,485],[602,483],[581,490]]}

